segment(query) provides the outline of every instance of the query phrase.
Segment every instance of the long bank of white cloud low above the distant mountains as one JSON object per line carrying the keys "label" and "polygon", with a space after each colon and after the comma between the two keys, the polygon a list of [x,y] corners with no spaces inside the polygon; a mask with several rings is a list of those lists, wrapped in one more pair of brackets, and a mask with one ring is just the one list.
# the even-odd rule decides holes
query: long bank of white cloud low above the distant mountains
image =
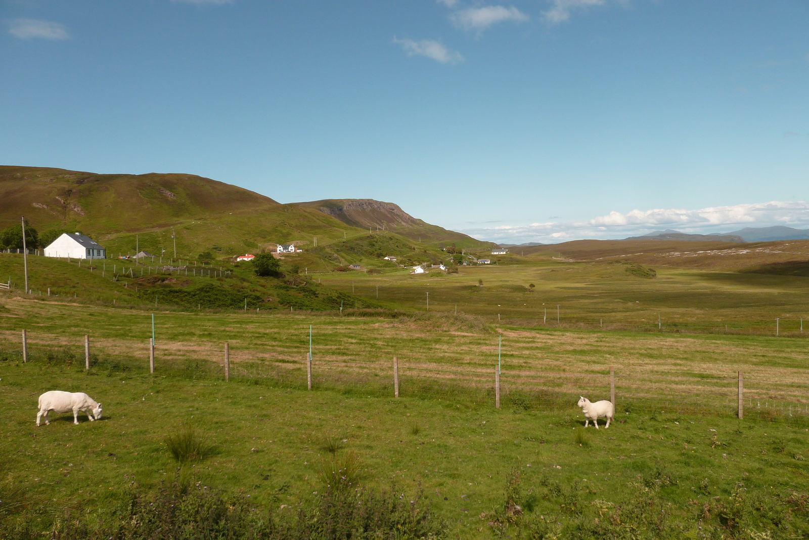
{"label": "long bank of white cloud low above the distant mountains", "polygon": [[639,236],[652,229],[675,228],[680,232],[707,234],[730,232],[743,227],[809,227],[809,202],[762,202],[735,206],[710,206],[701,210],[612,211],[586,221],[501,225],[465,229],[468,235],[493,241],[520,244],[527,241],[557,242],[584,238],[607,239]]}

